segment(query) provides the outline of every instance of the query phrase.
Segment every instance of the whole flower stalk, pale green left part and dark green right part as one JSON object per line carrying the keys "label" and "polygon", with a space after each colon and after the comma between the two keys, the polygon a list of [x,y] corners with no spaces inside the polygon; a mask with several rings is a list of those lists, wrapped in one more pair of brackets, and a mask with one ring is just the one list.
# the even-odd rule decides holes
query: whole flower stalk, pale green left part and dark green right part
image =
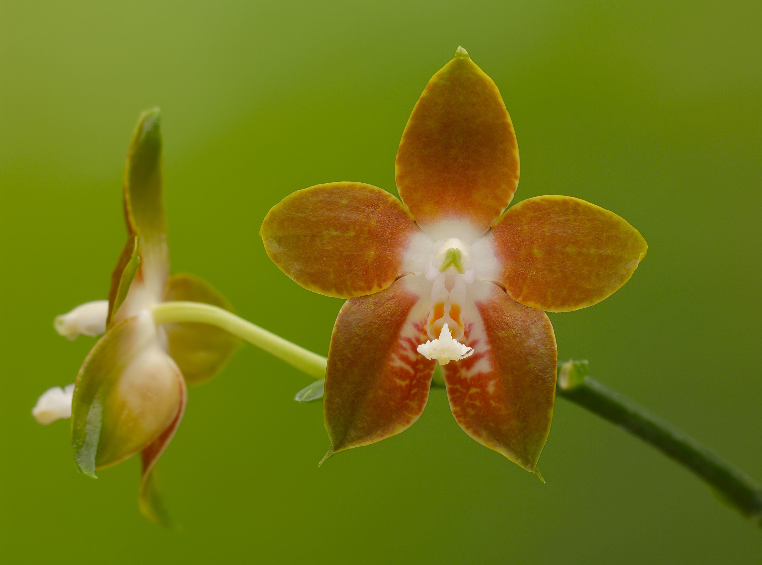
{"label": "whole flower stalk, pale green left part and dark green right part", "polygon": [[[314,401],[322,397],[325,357],[223,308],[199,302],[162,302],[153,307],[153,317],[156,324],[197,322],[221,327],[320,379],[299,391],[295,400]],[[592,378],[587,361],[568,361],[561,365],[556,393],[654,446],[706,481],[723,502],[762,525],[762,490],[754,480],[670,423]]]}

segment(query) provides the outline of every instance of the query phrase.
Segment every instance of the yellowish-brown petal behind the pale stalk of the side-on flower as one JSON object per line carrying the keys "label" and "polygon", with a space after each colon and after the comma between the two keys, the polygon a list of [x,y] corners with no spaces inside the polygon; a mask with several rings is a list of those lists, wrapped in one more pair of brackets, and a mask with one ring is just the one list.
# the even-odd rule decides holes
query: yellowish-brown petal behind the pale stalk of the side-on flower
{"label": "yellowish-brown petal behind the pale stalk of the side-on flower", "polygon": [[[188,273],[171,276],[164,300],[203,302],[233,311],[217,289]],[[209,324],[165,324],[164,329],[169,355],[188,385],[200,385],[220,372],[242,343],[238,337]]]}

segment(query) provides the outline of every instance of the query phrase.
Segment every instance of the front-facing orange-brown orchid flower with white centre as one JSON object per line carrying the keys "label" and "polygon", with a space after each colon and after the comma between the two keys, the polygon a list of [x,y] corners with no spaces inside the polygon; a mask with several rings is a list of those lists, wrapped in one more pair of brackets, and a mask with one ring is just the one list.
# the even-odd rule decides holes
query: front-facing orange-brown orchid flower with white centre
{"label": "front-facing orange-brown orchid flower with white centre", "polygon": [[321,184],[284,198],[261,228],[291,279],[347,298],[328,351],[326,457],[411,426],[438,361],[466,433],[536,472],[555,397],[545,311],[607,298],[647,245],[571,196],[506,210],[519,179],[514,128],[463,48],[415,105],[395,172],[402,202],[367,184]]}

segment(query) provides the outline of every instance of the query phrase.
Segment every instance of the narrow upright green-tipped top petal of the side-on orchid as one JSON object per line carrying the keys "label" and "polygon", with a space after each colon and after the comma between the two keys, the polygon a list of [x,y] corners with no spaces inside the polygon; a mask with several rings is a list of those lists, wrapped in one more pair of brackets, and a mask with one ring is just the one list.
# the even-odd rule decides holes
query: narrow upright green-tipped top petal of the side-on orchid
{"label": "narrow upright green-tipped top petal of the side-on orchid", "polygon": [[169,276],[160,126],[158,108],[140,115],[124,168],[127,229],[130,234],[140,234],[140,269],[146,288],[155,298],[161,296]]}

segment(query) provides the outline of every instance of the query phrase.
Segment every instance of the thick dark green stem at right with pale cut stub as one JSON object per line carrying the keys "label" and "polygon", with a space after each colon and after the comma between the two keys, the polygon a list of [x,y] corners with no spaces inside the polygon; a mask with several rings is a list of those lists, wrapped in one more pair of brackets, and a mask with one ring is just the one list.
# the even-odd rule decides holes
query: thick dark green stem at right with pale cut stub
{"label": "thick dark green stem at right with pale cut stub", "polygon": [[556,391],[683,464],[744,516],[755,520],[762,517],[762,490],[751,478],[670,423],[600,384],[588,375],[587,361],[561,365]]}

